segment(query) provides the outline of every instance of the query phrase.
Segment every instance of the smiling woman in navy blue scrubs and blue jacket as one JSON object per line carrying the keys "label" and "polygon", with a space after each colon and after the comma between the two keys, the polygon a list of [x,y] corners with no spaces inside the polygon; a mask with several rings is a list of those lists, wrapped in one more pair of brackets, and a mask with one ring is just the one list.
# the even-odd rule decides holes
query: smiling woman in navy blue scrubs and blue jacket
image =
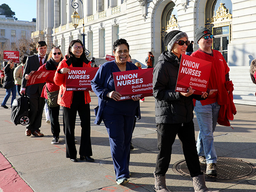
{"label": "smiling woman in navy blue scrubs and blue jacket", "polygon": [[140,106],[137,96],[119,101],[121,94],[115,90],[113,73],[137,70],[134,64],[128,62],[129,44],[125,39],[119,39],[113,44],[115,60],[103,64],[91,81],[92,89],[99,97],[99,106],[95,108],[96,120],[103,120],[109,135],[111,155],[116,173],[116,183],[128,183],[130,143],[134,124],[134,116],[140,118]]}

